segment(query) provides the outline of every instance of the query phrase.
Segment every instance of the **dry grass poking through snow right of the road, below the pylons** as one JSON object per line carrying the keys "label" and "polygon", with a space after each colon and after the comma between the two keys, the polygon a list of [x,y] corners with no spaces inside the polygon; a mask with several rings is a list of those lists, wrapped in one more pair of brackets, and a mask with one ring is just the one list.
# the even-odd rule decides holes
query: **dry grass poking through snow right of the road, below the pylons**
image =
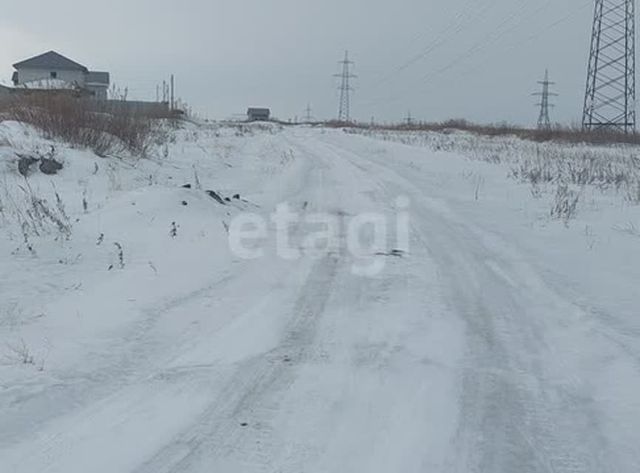
{"label": "dry grass poking through snow right of the road, below the pylons", "polygon": [[534,197],[550,193],[550,216],[565,223],[575,217],[581,195],[589,187],[640,205],[640,148],[630,140],[584,143],[576,134],[570,140],[535,141],[514,133],[500,135],[495,129],[494,134],[452,128],[352,127],[346,131],[504,165],[510,177],[531,186]]}

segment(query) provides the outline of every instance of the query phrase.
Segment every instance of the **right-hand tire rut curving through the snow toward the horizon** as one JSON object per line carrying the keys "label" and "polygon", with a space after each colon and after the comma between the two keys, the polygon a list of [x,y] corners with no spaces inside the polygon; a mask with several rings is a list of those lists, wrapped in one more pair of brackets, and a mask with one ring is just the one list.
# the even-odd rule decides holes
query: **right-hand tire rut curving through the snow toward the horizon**
{"label": "right-hand tire rut curving through the snow toward the horizon", "polygon": [[[438,264],[450,307],[467,325],[468,352],[461,370],[461,413],[451,470],[610,471],[597,453],[605,439],[596,413],[578,393],[548,384],[537,356],[544,348],[542,328],[534,317],[528,317],[526,309],[530,302],[526,280],[516,273],[511,278],[518,283],[514,288],[496,274],[486,261],[500,261],[500,256],[469,238],[473,232],[464,223],[451,220],[440,209],[434,211],[425,201],[424,190],[388,164],[365,160],[325,141],[321,145],[363,176],[371,178],[379,171],[377,182],[387,201],[398,195],[412,196],[413,220],[421,223],[413,227],[416,239]],[[550,289],[547,292],[558,297]],[[571,417],[566,415],[568,409],[573,409]],[[578,437],[576,428],[581,430]]]}

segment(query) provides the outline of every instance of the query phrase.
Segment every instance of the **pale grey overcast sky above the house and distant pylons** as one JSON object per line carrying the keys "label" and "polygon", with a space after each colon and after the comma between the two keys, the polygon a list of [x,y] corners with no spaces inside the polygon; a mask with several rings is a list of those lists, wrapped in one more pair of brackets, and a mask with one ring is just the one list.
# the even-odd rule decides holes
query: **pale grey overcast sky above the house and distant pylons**
{"label": "pale grey overcast sky above the house and distant pylons", "polygon": [[578,121],[593,0],[31,0],[4,2],[0,80],[56,50],[107,70],[129,96],[178,95],[228,118],[266,106],[283,119],[337,113],[332,75],[356,62],[354,118],[533,124],[545,68],[552,120]]}

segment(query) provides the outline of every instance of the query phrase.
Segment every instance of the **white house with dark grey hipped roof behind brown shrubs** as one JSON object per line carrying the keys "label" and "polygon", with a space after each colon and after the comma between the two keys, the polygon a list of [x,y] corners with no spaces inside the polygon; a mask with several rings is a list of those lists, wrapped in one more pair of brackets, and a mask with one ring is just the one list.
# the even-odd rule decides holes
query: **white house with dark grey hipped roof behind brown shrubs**
{"label": "white house with dark grey hipped roof behind brown shrubs", "polygon": [[78,88],[97,100],[107,100],[109,73],[90,71],[55,51],[34,56],[13,65],[13,84],[19,88]]}

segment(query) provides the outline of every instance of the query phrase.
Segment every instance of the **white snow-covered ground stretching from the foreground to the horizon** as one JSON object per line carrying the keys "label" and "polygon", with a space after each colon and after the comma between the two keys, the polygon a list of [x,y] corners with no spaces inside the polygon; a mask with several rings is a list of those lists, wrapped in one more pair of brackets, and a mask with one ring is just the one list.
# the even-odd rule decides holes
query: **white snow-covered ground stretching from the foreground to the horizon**
{"label": "white snow-covered ground stretching from the foreground to the horizon", "polygon": [[0,123],[1,473],[640,471],[638,148],[172,135]]}

